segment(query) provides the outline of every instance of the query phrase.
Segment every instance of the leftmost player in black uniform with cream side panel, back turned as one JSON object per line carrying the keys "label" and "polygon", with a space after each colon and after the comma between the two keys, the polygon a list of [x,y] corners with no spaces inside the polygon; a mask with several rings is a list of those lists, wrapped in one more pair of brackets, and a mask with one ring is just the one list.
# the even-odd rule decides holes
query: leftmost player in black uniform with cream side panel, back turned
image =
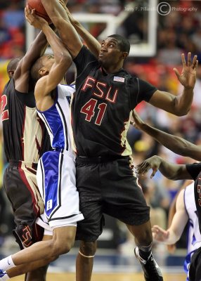
{"label": "leftmost player in black uniform with cream side panel, back turned", "polygon": [[[23,58],[8,63],[10,80],[1,96],[4,150],[9,163],[4,173],[4,188],[13,207],[16,226],[13,234],[20,249],[43,236],[43,230],[35,224],[44,211],[36,172],[38,159],[50,149],[50,141],[44,124],[37,117],[30,68],[46,46],[46,37],[41,32]],[[47,266],[27,273],[25,280],[46,280],[46,269]]]}

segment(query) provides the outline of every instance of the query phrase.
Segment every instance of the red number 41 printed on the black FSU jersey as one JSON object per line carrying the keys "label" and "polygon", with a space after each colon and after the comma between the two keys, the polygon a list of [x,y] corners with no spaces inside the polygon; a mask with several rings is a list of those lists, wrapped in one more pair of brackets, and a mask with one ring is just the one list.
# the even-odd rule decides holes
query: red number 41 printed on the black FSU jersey
{"label": "red number 41 printed on the black FSU jersey", "polygon": [[[96,103],[97,100],[94,100],[91,98],[83,107],[81,108],[80,112],[84,113],[86,115],[85,120],[88,122],[91,122],[91,118],[95,115],[95,108],[96,108]],[[98,115],[96,117],[95,124],[100,126],[102,120],[103,120],[103,115],[105,113],[107,104],[106,103],[100,103],[98,105]]]}

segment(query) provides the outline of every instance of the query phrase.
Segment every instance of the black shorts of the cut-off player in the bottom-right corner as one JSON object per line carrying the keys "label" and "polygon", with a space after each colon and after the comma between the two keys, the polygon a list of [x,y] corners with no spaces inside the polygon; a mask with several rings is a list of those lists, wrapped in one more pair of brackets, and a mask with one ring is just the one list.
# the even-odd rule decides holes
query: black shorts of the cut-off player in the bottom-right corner
{"label": "black shorts of the cut-off player in the bottom-right corner", "polygon": [[195,251],[191,258],[189,281],[201,281],[201,247]]}

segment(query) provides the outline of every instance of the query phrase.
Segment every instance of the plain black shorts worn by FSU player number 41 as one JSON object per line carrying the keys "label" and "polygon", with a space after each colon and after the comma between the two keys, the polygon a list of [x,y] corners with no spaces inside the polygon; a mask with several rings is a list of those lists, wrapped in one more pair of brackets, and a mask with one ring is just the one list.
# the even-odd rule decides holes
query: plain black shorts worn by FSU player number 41
{"label": "plain black shorts worn by FSU player number 41", "polygon": [[[99,159],[99,163],[97,163]],[[77,157],[77,190],[84,221],[77,223],[77,240],[95,241],[108,214],[123,223],[139,226],[150,219],[130,157],[104,162],[101,157]]]}

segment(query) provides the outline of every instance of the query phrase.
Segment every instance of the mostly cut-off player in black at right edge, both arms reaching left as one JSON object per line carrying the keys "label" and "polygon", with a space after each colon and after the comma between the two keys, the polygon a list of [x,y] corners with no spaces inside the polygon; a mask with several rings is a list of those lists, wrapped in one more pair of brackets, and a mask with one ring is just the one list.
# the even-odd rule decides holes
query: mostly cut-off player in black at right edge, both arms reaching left
{"label": "mostly cut-off player in black at right edge, both arms reaching left", "polygon": [[[201,148],[200,145],[194,145],[189,141],[178,136],[173,136],[169,133],[155,129],[153,126],[145,124],[138,114],[133,113],[134,123],[137,129],[148,133],[148,135],[155,138],[161,145],[164,145],[169,150],[186,157],[191,157],[200,163],[195,164],[172,164],[161,157],[155,155],[143,161],[136,166],[138,174],[145,174],[149,169],[153,169],[151,178],[155,176],[157,170],[159,170],[165,177],[171,180],[180,179],[193,179],[195,204],[197,209],[197,217],[199,221],[200,233],[201,233]],[[200,281],[201,280],[201,247],[195,251],[192,260],[190,262],[189,280]]]}

